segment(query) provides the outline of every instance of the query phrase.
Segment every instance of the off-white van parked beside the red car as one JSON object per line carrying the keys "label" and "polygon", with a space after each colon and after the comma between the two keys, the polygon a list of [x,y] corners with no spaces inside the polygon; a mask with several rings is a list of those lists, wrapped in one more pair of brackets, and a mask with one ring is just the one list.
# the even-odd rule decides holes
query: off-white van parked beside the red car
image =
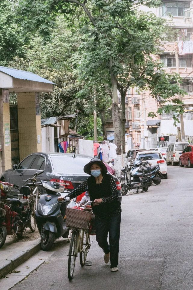
{"label": "off-white van parked beside the red car", "polygon": [[190,145],[188,142],[182,141],[170,143],[167,147],[167,165],[172,163],[172,166],[174,166],[177,162],[179,162],[179,156],[181,155],[184,148],[188,145]]}

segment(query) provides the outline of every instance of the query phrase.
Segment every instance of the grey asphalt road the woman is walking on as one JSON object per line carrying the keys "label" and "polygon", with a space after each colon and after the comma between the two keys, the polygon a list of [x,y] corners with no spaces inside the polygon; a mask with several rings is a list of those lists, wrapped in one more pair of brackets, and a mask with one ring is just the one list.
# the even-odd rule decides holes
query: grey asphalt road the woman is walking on
{"label": "grey asphalt road the woman is walking on", "polygon": [[193,169],[168,166],[168,180],[122,202],[119,271],[110,272],[95,237],[81,268],[67,278],[68,244],[13,290],[192,290]]}

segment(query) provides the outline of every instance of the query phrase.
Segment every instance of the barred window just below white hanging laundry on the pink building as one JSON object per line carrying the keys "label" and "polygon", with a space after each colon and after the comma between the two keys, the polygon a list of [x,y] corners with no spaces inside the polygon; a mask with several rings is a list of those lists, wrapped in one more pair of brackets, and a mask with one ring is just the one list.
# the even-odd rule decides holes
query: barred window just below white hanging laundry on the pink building
{"label": "barred window just below white hanging laundry on the pink building", "polygon": [[[176,57],[175,55],[163,54],[160,55],[160,60],[164,63],[164,66],[167,68],[176,67]],[[180,68],[192,68],[192,55],[187,56],[178,56],[179,67]]]}

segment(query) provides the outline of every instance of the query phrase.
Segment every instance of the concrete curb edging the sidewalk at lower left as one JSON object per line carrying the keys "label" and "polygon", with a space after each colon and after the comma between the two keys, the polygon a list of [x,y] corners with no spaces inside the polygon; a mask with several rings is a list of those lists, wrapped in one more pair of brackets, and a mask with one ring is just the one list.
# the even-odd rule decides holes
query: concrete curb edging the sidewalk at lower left
{"label": "concrete curb edging the sidewalk at lower left", "polygon": [[17,266],[24,263],[30,257],[35,255],[41,249],[40,239],[36,240],[34,244],[30,246],[27,250],[20,253],[18,256],[14,257],[12,260],[7,260],[7,263],[0,266],[0,278],[5,276],[7,273],[13,271]]}

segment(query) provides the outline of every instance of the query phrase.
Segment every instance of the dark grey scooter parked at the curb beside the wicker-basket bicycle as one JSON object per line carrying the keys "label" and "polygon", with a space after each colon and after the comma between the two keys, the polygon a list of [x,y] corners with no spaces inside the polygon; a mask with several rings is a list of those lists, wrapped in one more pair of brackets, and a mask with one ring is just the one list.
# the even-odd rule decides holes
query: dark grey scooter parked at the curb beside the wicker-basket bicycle
{"label": "dark grey scooter parked at the curb beside the wicker-basket bicycle", "polygon": [[[59,196],[66,196],[69,192],[64,186],[57,182],[41,181],[47,194],[42,194],[39,198],[38,207],[35,211],[36,224],[41,235],[42,250],[48,251],[54,244],[54,240],[59,237],[67,238],[69,228],[66,227],[65,207],[61,214],[61,204],[69,201],[58,202]],[[65,192],[64,192],[65,191]]]}

